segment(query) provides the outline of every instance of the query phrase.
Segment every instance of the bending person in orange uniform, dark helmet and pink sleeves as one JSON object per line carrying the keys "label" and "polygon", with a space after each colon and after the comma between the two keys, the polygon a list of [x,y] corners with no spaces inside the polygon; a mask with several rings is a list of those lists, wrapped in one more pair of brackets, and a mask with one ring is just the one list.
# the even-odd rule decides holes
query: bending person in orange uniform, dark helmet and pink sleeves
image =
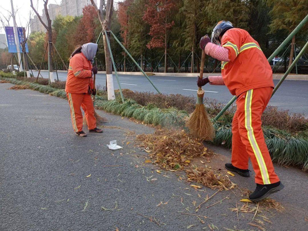
{"label": "bending person in orange uniform, dark helmet and pink sleeves", "polygon": [[221,61],[221,76],[198,78],[197,85],[226,85],[231,94],[237,96],[231,164],[225,164],[225,168],[248,177],[250,157],[257,187],[249,199],[262,200],[284,187],[274,171],[261,128],[261,115],[274,88],[270,64],[257,41],[246,30],[234,28],[228,21],[218,22],[212,38],[202,37],[200,47],[205,54]]}

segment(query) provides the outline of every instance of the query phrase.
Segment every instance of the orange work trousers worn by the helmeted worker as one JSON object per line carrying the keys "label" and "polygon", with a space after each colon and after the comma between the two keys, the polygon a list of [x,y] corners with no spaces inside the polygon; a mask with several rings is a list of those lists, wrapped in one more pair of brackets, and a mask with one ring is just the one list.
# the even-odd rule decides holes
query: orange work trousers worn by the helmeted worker
{"label": "orange work trousers worn by the helmeted worker", "polygon": [[273,184],[279,181],[261,128],[261,115],[272,92],[272,87],[243,92],[237,97],[237,110],[232,122],[231,163],[234,167],[248,169],[250,157],[257,184]]}

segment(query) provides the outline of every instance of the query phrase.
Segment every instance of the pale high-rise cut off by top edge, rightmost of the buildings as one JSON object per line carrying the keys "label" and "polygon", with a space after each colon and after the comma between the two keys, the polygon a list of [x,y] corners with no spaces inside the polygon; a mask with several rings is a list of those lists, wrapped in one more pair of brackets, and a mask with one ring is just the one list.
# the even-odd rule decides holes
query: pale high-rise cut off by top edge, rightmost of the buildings
{"label": "pale high-rise cut off by top edge, rightmost of the buildings", "polygon": [[[97,1],[94,0],[95,4]],[[71,15],[71,16],[80,16],[82,15],[83,7],[91,5],[90,0],[62,0],[61,2],[61,14],[63,16]]]}

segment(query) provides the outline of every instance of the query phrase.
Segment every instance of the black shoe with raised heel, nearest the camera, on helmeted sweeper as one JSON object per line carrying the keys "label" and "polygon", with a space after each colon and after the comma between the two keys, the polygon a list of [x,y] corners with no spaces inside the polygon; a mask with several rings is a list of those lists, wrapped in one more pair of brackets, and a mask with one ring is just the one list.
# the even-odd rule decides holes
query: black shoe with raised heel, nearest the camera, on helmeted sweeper
{"label": "black shoe with raised heel, nearest the camera, on helmeted sweeper", "polygon": [[249,200],[260,201],[270,194],[280,191],[283,187],[280,181],[274,184],[257,184],[256,190],[249,195]]}

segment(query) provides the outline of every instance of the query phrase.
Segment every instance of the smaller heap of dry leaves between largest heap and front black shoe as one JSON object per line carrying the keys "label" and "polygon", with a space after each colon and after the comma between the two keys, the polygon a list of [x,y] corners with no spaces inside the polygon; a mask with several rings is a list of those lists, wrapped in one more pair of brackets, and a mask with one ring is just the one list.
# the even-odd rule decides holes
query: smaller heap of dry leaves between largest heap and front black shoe
{"label": "smaller heap of dry leaves between largest heap and front black shoe", "polygon": [[197,182],[209,188],[218,188],[229,190],[235,187],[228,177],[219,173],[214,173],[213,170],[208,168],[195,168],[186,170],[188,182]]}

